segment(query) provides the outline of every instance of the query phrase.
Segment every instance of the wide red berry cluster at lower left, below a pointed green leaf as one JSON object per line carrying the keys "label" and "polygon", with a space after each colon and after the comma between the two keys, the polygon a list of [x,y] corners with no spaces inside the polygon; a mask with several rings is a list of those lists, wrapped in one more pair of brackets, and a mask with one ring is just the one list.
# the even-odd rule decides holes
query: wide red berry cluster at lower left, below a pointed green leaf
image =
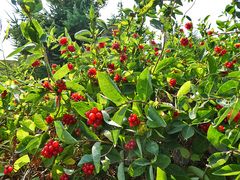
{"label": "wide red berry cluster at lower left, below a pointed green leaf", "polygon": [[58,141],[50,139],[43,147],[41,155],[45,158],[52,158],[52,156],[57,156],[59,153],[63,152],[63,147],[60,146]]}

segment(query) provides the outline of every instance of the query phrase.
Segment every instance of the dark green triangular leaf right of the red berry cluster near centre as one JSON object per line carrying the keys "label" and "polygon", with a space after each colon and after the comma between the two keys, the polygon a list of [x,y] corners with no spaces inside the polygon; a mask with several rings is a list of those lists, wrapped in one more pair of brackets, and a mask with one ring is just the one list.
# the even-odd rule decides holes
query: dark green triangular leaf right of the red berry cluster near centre
{"label": "dark green triangular leaf right of the red berry cluster near centre", "polygon": [[150,128],[158,128],[158,127],[166,127],[167,123],[164,121],[162,117],[160,117],[159,113],[150,106],[148,108],[148,115],[147,115],[147,125]]}

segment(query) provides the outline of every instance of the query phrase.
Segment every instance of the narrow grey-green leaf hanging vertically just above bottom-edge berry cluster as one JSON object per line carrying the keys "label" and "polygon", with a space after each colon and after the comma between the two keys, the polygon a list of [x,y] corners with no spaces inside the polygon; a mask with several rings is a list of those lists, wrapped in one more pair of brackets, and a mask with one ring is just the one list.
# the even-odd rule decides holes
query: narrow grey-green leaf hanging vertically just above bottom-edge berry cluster
{"label": "narrow grey-green leaf hanging vertically just above bottom-edge berry cluster", "polygon": [[92,158],[97,174],[100,172],[101,143],[96,142],[92,147]]}

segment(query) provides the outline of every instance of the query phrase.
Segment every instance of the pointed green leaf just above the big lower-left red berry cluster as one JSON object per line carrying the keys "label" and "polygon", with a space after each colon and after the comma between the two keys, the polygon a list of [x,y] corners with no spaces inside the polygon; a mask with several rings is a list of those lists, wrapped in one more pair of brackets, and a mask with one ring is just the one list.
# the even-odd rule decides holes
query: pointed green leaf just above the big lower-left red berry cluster
{"label": "pointed green leaf just above the big lower-left red berry cluster", "polygon": [[72,135],[64,128],[62,122],[54,121],[54,125],[56,128],[56,133],[60,141],[66,144],[76,144],[77,140],[72,137]]}

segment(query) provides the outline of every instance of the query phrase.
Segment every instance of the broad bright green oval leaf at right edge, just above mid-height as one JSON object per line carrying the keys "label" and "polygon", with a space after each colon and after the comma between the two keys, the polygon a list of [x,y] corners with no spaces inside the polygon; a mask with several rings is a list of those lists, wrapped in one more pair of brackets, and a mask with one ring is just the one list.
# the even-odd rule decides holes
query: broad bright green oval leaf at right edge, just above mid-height
{"label": "broad bright green oval leaf at right edge, just above mid-height", "polygon": [[229,80],[225,82],[217,91],[217,95],[229,95],[235,94],[238,89],[239,82],[234,80]]}

